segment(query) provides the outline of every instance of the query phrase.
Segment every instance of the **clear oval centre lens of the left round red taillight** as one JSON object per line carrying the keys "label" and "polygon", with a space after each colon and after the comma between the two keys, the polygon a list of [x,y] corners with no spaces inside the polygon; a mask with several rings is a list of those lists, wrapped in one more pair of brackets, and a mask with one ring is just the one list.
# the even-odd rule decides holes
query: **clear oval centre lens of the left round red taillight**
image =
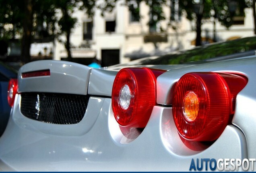
{"label": "clear oval centre lens of the left round red taillight", "polygon": [[119,104],[122,109],[127,110],[131,102],[131,92],[127,84],[124,84],[119,93]]}

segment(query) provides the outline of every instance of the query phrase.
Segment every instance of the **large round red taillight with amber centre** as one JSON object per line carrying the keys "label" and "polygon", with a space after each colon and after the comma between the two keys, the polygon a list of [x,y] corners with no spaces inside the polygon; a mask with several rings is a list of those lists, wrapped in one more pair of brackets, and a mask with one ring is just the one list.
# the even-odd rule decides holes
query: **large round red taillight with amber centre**
{"label": "large round red taillight with amber centre", "polygon": [[247,82],[243,76],[216,72],[182,76],[173,97],[173,118],[180,135],[191,141],[216,140],[234,113],[237,93]]}

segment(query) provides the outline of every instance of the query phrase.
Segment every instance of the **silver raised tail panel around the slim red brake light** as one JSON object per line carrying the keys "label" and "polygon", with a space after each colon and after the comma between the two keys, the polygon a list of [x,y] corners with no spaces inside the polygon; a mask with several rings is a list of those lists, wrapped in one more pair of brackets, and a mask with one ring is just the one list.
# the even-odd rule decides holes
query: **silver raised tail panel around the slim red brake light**
{"label": "silver raised tail panel around the slim red brake light", "polygon": [[[22,78],[21,73],[50,69],[50,76]],[[86,95],[91,68],[68,61],[41,60],[19,70],[19,92],[52,92]]]}

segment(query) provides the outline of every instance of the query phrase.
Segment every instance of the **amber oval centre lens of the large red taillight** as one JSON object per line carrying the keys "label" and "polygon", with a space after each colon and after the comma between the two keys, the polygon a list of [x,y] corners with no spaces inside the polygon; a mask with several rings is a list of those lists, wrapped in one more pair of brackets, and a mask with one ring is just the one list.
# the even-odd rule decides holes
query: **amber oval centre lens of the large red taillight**
{"label": "amber oval centre lens of the large red taillight", "polygon": [[188,121],[194,121],[198,115],[199,103],[197,95],[190,91],[183,100],[184,117]]}

